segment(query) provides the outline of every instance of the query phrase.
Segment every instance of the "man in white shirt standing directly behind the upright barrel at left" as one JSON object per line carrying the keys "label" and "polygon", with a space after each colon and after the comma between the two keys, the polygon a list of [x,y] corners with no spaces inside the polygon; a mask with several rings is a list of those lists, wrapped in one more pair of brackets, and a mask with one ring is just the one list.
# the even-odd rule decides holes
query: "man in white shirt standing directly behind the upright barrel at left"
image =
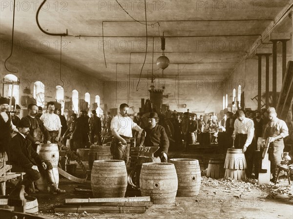
{"label": "man in white shirt standing directly behind the upright barrel at left", "polygon": [[49,131],[51,136],[51,142],[57,143],[60,140],[61,136],[61,120],[58,115],[54,113],[55,103],[48,102],[47,103],[47,113],[43,113],[40,119],[42,120],[44,127]]}

